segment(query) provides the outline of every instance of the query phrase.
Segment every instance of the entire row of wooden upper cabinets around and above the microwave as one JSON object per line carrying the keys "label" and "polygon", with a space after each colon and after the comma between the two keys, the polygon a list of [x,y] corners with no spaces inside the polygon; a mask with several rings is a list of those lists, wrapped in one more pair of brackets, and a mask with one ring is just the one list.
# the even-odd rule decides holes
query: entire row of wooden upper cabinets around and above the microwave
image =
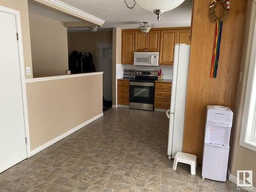
{"label": "entire row of wooden upper cabinets around and above the microwave", "polygon": [[154,28],[148,33],[138,29],[122,31],[122,63],[133,64],[134,52],[159,52],[159,65],[173,65],[176,44],[190,45],[189,28]]}

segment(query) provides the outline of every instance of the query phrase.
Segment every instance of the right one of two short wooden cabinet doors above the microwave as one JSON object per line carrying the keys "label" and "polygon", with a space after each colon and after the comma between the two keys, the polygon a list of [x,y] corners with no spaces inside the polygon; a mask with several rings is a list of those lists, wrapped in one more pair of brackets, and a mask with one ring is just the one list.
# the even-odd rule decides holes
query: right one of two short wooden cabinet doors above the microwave
{"label": "right one of two short wooden cabinet doors above the microwave", "polygon": [[146,51],[159,52],[160,45],[160,30],[150,31],[146,34],[147,36],[147,46]]}

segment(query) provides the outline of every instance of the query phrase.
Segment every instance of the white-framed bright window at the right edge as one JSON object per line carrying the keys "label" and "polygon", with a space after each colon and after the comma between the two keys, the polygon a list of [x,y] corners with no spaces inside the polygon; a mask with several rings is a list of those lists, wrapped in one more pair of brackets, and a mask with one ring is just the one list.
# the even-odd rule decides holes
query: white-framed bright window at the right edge
{"label": "white-framed bright window at the right edge", "polygon": [[256,152],[256,25],[249,61],[240,145]]}

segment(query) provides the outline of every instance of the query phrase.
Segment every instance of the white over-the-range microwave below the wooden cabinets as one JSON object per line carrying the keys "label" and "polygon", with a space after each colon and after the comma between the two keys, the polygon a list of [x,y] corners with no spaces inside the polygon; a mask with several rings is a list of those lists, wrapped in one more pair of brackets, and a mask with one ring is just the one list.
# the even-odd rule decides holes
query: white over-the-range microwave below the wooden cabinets
{"label": "white over-the-range microwave below the wooden cabinets", "polygon": [[159,52],[134,52],[135,66],[158,66]]}

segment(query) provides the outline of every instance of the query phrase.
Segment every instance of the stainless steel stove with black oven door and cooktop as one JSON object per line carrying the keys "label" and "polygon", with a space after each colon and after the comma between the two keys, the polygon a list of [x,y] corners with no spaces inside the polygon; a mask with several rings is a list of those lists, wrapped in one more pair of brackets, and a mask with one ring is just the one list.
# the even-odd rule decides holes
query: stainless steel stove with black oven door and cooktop
{"label": "stainless steel stove with black oven door and cooktop", "polygon": [[131,109],[154,111],[154,92],[156,78],[157,72],[155,71],[135,72],[135,80],[130,81]]}

